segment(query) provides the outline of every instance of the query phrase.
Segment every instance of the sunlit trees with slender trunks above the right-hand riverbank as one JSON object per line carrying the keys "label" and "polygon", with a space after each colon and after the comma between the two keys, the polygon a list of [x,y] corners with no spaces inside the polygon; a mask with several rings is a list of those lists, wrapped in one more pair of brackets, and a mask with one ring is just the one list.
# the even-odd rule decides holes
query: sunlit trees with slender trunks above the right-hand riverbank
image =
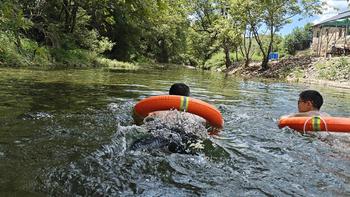
{"label": "sunlit trees with slender trunks above the right-hand riverbank", "polygon": [[[191,15],[192,28],[201,30],[197,35],[207,38],[202,41],[209,46],[201,47],[211,55],[222,46],[226,67],[230,65],[229,51],[241,51],[248,65],[252,56],[252,39],[258,44],[262,55],[262,70],[268,68],[268,57],[273,49],[276,34],[283,26],[291,22],[296,15],[320,13],[322,3],[317,0],[194,0],[197,9]],[[200,5],[200,6],[199,6]],[[202,27],[198,28],[198,27]],[[204,27],[204,28],[203,28]],[[195,39],[195,38],[194,38]],[[218,44],[221,42],[222,44]],[[200,51],[200,50],[198,50]],[[209,58],[204,56],[204,60]]]}

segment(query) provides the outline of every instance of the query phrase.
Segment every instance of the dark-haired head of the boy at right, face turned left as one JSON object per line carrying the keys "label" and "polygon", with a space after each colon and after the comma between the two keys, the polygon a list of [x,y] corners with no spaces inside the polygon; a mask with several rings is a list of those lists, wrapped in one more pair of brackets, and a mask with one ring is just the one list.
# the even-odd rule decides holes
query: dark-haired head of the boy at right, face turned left
{"label": "dark-haired head of the boy at right, face turned left", "polygon": [[305,90],[299,94],[299,112],[320,110],[323,104],[322,95],[316,90]]}

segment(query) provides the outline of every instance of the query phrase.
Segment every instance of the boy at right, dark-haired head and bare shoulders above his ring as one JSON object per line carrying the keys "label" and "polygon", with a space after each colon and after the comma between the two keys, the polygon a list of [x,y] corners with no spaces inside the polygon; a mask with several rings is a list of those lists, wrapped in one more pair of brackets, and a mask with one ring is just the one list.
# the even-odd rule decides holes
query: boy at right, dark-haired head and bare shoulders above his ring
{"label": "boy at right, dark-haired head and bare shoulders above his ring", "polygon": [[320,112],[323,104],[322,95],[316,90],[305,90],[299,94],[298,113],[282,116],[287,117],[312,117],[312,116],[330,116],[325,112]]}

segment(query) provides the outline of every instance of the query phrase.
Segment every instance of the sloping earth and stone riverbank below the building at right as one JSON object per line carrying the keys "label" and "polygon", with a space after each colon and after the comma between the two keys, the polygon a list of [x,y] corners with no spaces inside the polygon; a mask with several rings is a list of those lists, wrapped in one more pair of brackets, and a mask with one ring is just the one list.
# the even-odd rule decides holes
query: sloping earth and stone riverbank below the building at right
{"label": "sloping earth and stone riverbank below the building at right", "polygon": [[269,63],[269,69],[261,71],[260,62],[249,66],[232,66],[228,75],[244,78],[267,78],[310,84],[322,84],[350,89],[350,57],[294,56]]}

